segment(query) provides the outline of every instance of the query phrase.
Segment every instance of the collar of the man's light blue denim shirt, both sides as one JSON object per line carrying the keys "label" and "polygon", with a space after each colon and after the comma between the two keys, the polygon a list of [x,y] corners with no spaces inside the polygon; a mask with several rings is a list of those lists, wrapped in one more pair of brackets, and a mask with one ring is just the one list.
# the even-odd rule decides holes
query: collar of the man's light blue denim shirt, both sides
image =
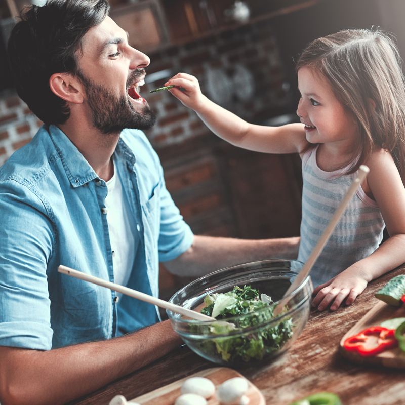
{"label": "collar of the man's light blue denim shirt, both sides", "polygon": [[[80,187],[98,178],[94,169],[70,139],[56,126],[49,126],[49,135],[62,160],[66,175],[73,187]],[[115,148],[117,155],[128,162],[131,169],[135,166],[135,155],[127,144],[119,138]]]}

